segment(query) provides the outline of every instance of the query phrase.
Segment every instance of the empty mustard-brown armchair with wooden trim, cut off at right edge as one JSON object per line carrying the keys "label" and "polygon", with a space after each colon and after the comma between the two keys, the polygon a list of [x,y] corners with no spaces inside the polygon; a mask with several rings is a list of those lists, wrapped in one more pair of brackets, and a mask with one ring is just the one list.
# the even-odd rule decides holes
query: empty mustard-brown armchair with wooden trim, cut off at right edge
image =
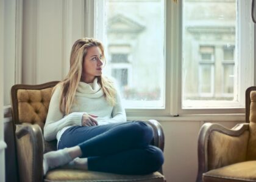
{"label": "empty mustard-brown armchair with wooden trim, cut off at right edge", "polygon": [[199,132],[197,181],[256,181],[256,87],[246,90],[246,123]]}

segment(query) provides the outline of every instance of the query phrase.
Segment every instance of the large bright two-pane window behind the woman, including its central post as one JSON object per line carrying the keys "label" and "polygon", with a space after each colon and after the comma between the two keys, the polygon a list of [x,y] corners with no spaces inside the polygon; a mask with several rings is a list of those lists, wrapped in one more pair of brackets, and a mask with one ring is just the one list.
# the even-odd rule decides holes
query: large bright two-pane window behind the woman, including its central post
{"label": "large bright two-pane window behind the woman, including its central post", "polygon": [[102,14],[94,35],[106,47],[105,74],[118,81],[126,108],[243,112],[254,81],[251,3],[105,0],[94,7]]}

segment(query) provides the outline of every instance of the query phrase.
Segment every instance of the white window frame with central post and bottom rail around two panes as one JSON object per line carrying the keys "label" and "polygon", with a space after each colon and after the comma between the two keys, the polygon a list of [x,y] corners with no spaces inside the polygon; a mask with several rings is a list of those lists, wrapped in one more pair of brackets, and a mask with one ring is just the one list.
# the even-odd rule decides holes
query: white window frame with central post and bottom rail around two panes
{"label": "white window frame with central post and bottom rail around two panes", "polygon": [[[94,26],[96,21],[102,21],[105,17],[104,12],[104,3],[105,1],[94,1],[91,3],[90,0],[85,0],[87,3],[87,10],[93,12],[94,17],[89,17],[87,22],[91,22],[91,26],[87,25],[86,32],[93,32],[93,35],[98,39],[103,40],[104,35],[104,23],[98,24],[98,27]],[[202,115],[204,115],[204,120],[207,121],[241,121],[244,118],[244,107],[235,106],[232,108],[216,108],[216,109],[205,109],[205,108],[197,108],[197,109],[182,109],[182,1],[165,1],[165,109],[126,109],[127,115],[130,118],[140,119],[142,118],[154,118],[159,121],[168,121],[168,120],[202,120]],[[101,8],[102,11],[96,13],[94,7]],[[245,88],[246,86],[252,85],[256,83],[253,79],[256,73],[256,66],[254,65],[254,54],[251,50],[250,53],[247,52],[248,47],[252,47],[251,44],[254,44],[254,33],[247,33],[246,30],[250,30],[249,32],[254,31],[254,26],[251,21],[251,2],[249,1],[241,1],[238,0],[238,11],[240,14],[245,16],[238,17],[238,27],[241,30],[240,35],[238,35],[238,41],[240,41],[240,45],[238,45],[238,49],[240,50],[240,54],[238,54],[238,58],[240,59],[243,56],[243,60],[247,60],[248,64],[241,64],[238,67],[241,67],[240,76],[244,75],[244,81],[241,79],[238,80],[241,88]],[[102,21],[103,22],[103,21]],[[100,27],[99,27],[100,26]],[[88,30],[89,29],[89,30]],[[98,33],[96,33],[98,31]],[[98,36],[96,36],[98,35]],[[99,36],[101,35],[101,36]],[[246,35],[247,37],[244,37]],[[253,37],[253,39],[252,39]],[[243,45],[243,46],[241,46]],[[255,56],[256,57],[256,56]],[[172,93],[172,94],[169,94]],[[241,94],[243,93],[243,94]],[[238,99],[241,100],[241,103],[244,102],[244,90],[238,90]],[[225,106],[225,102],[223,102]],[[240,113],[240,116],[235,114]],[[212,114],[218,114],[219,116],[215,116],[212,118]],[[226,115],[223,117],[222,114]],[[180,116],[179,118],[173,116]],[[192,117],[191,117],[192,116]],[[230,118],[230,116],[233,116]],[[193,118],[193,119],[192,119]]]}

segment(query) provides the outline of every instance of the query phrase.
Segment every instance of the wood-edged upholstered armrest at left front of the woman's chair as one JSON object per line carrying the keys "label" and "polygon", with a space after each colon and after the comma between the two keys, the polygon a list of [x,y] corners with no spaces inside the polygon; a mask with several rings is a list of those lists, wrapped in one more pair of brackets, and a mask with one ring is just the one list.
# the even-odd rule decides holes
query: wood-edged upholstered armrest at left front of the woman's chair
{"label": "wood-edged upholstered armrest at left front of the woman's chair", "polygon": [[37,124],[16,125],[20,181],[43,181],[43,134]]}

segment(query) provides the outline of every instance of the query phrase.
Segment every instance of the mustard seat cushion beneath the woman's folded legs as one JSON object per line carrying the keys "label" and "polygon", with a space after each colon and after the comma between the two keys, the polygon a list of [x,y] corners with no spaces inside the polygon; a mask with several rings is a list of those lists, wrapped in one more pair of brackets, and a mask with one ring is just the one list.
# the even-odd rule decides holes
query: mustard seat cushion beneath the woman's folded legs
{"label": "mustard seat cushion beneath the woman's folded legs", "polygon": [[94,172],[87,170],[54,169],[49,171],[44,181],[148,181],[163,182],[165,177],[159,172],[149,175],[118,175],[105,172]]}

